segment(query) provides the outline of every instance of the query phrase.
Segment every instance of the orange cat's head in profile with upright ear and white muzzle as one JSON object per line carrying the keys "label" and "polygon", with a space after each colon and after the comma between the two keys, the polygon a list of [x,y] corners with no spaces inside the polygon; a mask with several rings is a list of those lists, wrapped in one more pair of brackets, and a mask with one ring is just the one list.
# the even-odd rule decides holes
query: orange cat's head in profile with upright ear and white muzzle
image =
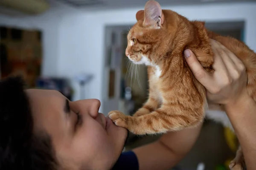
{"label": "orange cat's head in profile with upright ear and white muzzle", "polygon": [[[171,12],[163,10],[165,12]],[[165,16],[159,5],[154,0],[145,4],[145,9],[136,14],[137,23],[127,35],[128,45],[125,55],[135,64],[157,65],[161,54],[165,54],[171,46],[169,37],[174,34],[170,24],[175,27],[175,16]],[[173,23],[168,23],[168,20]]]}

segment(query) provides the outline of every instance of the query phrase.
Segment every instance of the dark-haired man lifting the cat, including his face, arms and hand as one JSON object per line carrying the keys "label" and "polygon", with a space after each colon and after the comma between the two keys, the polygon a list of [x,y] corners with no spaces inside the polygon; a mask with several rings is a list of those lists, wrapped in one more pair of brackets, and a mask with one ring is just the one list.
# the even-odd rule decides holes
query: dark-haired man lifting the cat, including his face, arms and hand
{"label": "dark-haired man lifting the cat, including his face, arms and hand", "polygon": [[[218,42],[212,43],[216,61],[213,75],[204,71],[192,51],[185,51],[186,61],[207,88],[208,99],[225,104],[247,169],[256,169],[256,104],[246,92],[244,66]],[[227,77],[232,83],[225,81]],[[3,80],[0,170],[167,170],[189,152],[201,129],[198,125],[169,132],[157,142],[121,154],[127,130],[98,113],[99,107],[96,99],[71,102],[58,91],[24,91],[19,78]]]}

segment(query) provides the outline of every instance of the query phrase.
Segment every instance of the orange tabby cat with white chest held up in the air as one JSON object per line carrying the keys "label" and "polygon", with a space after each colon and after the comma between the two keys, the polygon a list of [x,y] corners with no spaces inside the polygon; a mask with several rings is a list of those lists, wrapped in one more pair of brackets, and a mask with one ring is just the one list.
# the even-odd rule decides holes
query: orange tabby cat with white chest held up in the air
{"label": "orange tabby cat with white chest held up in the air", "polygon": [[183,51],[191,49],[205,70],[213,72],[210,39],[221,42],[241,59],[247,71],[248,93],[256,100],[256,54],[243,42],[207,31],[204,22],[162,10],[153,0],[136,18],[125,54],[135,64],[148,65],[149,96],[134,116],[111,111],[108,115],[116,125],[135,134],[152,134],[202,122],[207,111],[206,90],[193,76]]}

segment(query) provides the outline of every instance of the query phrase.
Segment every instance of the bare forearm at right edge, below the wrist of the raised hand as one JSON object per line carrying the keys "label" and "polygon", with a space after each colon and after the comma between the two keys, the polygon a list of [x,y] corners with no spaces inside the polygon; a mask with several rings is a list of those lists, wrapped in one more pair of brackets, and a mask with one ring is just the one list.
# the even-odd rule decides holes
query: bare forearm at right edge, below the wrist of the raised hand
{"label": "bare forearm at right edge, below the wrist of the raised hand", "polygon": [[256,102],[246,91],[225,108],[241,144],[246,168],[256,170]]}

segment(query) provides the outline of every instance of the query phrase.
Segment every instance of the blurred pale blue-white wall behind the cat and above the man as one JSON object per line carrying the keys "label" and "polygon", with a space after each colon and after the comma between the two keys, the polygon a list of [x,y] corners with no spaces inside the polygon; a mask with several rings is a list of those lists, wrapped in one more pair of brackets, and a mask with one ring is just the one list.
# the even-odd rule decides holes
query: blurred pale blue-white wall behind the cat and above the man
{"label": "blurred pale blue-white wall behind the cat and above the man", "polygon": [[[135,0],[130,0],[130,6],[127,6],[127,3],[122,6],[121,3],[118,7],[111,8],[103,4],[97,9],[97,6],[93,5],[72,6],[64,0],[50,0],[47,1],[50,5],[49,9],[44,13],[22,17],[0,15],[0,25],[42,30],[42,75],[71,78],[81,72],[93,74],[94,78],[87,85],[86,96],[102,101],[105,26],[121,25],[127,26],[128,29],[136,22],[136,12],[144,8],[146,0],[140,1],[140,5],[137,6]],[[162,8],[177,11],[191,20],[244,21],[244,41],[250,48],[256,50],[255,2],[216,0],[214,3],[208,3],[195,0],[184,5],[182,1],[178,3],[176,0],[164,2],[163,4],[167,5],[162,5]],[[79,99],[79,85],[74,82],[73,86],[76,89],[74,99]]]}

